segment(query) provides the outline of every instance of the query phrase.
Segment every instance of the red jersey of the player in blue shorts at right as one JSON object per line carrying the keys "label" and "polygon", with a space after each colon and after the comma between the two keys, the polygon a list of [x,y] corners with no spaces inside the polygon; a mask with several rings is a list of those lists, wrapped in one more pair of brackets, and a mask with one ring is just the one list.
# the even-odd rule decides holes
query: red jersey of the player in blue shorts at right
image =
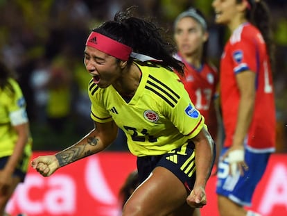
{"label": "red jersey of the player in blue shorts at right", "polygon": [[225,147],[230,147],[236,128],[240,92],[236,74],[256,73],[254,113],[245,144],[261,152],[275,150],[275,99],[270,59],[259,30],[250,23],[241,24],[225,45],[220,63],[220,97],[225,126]]}

